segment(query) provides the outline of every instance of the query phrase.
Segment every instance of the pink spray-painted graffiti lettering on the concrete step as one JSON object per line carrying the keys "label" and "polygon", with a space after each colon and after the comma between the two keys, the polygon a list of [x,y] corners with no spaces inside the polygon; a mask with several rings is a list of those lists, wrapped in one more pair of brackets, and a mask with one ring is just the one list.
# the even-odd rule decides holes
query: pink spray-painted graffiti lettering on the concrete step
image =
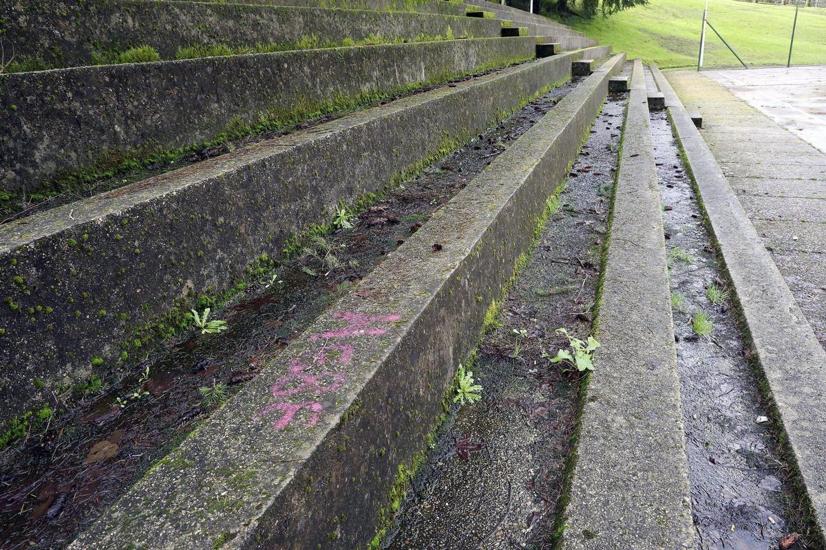
{"label": "pink spray-painted graffiti lettering on the concrete step", "polygon": [[[396,322],[400,315],[370,316],[365,313],[335,312],[333,316],[347,322],[344,328],[335,331],[320,332],[310,336],[310,341],[322,341],[320,349],[306,350],[301,355],[290,360],[287,375],[279,378],[270,388],[273,397],[283,398],[298,395],[299,393],[327,393],[340,388],[346,382],[346,375],[335,366],[345,366],[353,361],[354,348],[350,344],[341,343],[327,346],[330,341],[345,338],[360,338],[364,336],[382,336],[387,328],[381,323]],[[307,372],[313,367],[323,368],[330,364],[334,369],[322,370],[320,374]],[[281,411],[281,416],[273,424],[276,430],[282,430],[292,422],[293,418],[302,409],[307,409],[310,417],[306,425],[314,426],[319,420],[323,406],[317,401],[288,402],[278,401],[263,407],[256,417],[266,416]]]}

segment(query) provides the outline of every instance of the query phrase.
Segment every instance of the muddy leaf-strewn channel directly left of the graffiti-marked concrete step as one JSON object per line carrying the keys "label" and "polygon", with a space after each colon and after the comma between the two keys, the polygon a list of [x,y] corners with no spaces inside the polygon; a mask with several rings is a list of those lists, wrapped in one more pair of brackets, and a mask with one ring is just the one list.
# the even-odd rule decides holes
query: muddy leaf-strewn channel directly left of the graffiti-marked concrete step
{"label": "muddy leaf-strewn channel directly left of the graffiti-marked concrete step", "polygon": [[[278,270],[277,282],[268,288],[262,283],[246,299],[213,313],[227,321],[227,331],[168,342],[140,365],[139,374],[76,404],[45,433],[3,452],[0,548],[60,548],[72,540],[209,416],[199,388],[225,383],[229,397],[238,392],[264,358],[278,354],[349,292],[575,84],[554,89],[435,162],[404,189],[392,190],[360,214],[354,228],[325,237],[338,266],[293,259]],[[146,366],[150,374],[141,379]],[[139,397],[128,397],[135,392]]]}

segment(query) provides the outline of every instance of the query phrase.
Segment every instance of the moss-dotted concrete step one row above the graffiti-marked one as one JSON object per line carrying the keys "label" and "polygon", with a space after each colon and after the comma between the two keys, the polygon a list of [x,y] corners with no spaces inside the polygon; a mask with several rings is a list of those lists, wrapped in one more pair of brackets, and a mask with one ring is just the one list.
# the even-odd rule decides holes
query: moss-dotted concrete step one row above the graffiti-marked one
{"label": "moss-dotted concrete step one row above the graffiti-marked one", "polygon": [[176,327],[198,297],[225,294],[262,255],[278,259],[294,237],[330,223],[339,204],[369,201],[567,78],[572,59],[608,52],[408,96],[0,226],[0,280],[12,299],[0,309],[0,342],[13,365],[2,416],[58,384],[129,369],[121,352]]}

